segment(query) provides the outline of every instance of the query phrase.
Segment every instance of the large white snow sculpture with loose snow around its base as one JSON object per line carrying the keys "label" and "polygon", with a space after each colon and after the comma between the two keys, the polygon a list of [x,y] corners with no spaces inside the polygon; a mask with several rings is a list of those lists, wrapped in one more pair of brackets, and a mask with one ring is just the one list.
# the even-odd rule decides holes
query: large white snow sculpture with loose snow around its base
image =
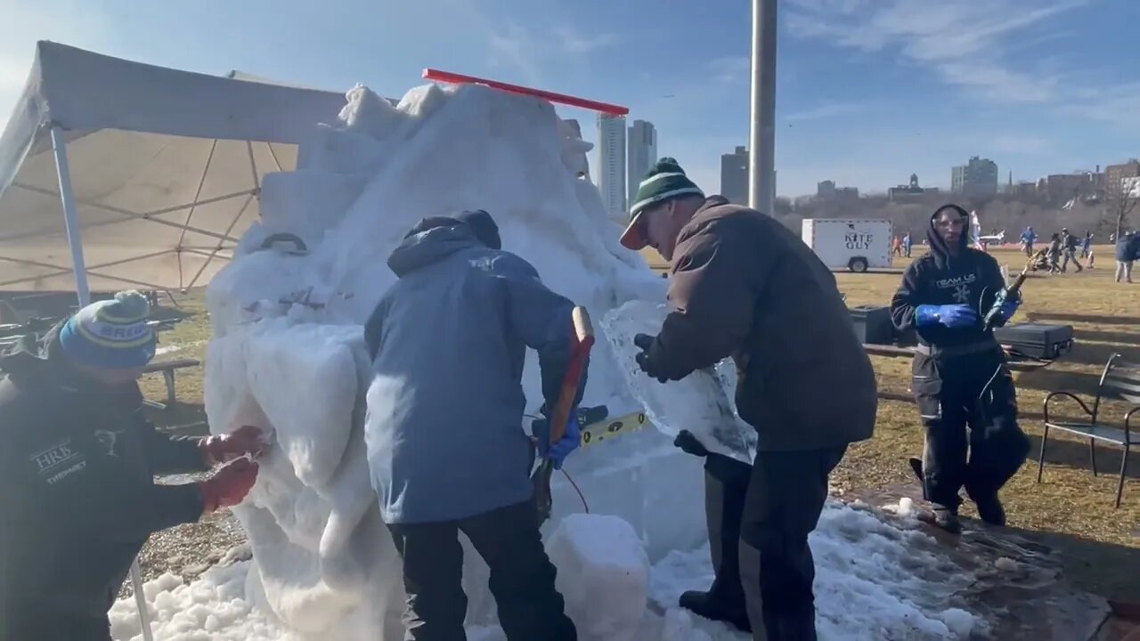
{"label": "large white snow sculpture with loose snow around its base", "polygon": [[[207,292],[214,330],[206,358],[210,424],[274,432],[256,486],[235,509],[253,561],[189,586],[152,583],[158,639],[402,638],[400,561],[378,517],[364,443],[370,364],[361,325],[394,281],[385,259],[421,218],[486,209],[504,248],[530,261],[553,290],[605,317],[606,326],[645,323],[622,315],[662,303],[665,284],[618,244],[619,228],[597,189],[579,178],[588,149],[539,99],[427,86],[392,107],[358,87],[337,122],[315,123],[296,171],[266,177],[261,224],[245,234]],[[304,248],[262,249],[280,233],[300,237]],[[545,532],[568,614],[584,640],[724,638],[723,626],[671,610],[683,589],[706,587],[710,576],[701,460],[674,448],[668,435],[687,429],[706,445],[723,445],[714,451],[747,457],[748,433],[726,432],[731,420],[687,423],[692,412],[657,405],[657,383],[630,378],[628,336],[609,339],[595,347],[584,403],[604,404],[612,415],[653,405],[661,431],[633,432],[570,457],[565,469],[589,502],[588,517],[567,518],[585,505],[556,477],[555,513]],[[731,381],[718,374],[716,391],[702,392],[702,379],[693,378],[669,383],[665,397],[723,412]],[[630,381],[637,381],[633,388]],[[532,355],[524,391],[536,414],[542,396]],[[860,549],[863,543],[845,535],[840,526],[860,519],[864,526],[854,529],[862,536],[878,528],[881,536],[868,544],[881,541],[881,549]],[[883,630],[950,634],[938,606],[909,600],[937,594],[946,582],[927,582],[914,573],[921,563],[902,562],[909,558],[905,536],[850,510],[824,514],[813,545],[825,638],[882,638]],[[466,550],[472,638],[495,639],[500,633],[487,568]],[[864,574],[853,570],[861,565]],[[850,602],[869,595],[874,603],[853,616]],[[649,599],[656,608],[646,608]],[[663,618],[652,614],[662,609]],[[131,614],[130,605],[116,606],[116,639],[137,635]],[[956,614],[948,619],[954,631],[964,625]]]}

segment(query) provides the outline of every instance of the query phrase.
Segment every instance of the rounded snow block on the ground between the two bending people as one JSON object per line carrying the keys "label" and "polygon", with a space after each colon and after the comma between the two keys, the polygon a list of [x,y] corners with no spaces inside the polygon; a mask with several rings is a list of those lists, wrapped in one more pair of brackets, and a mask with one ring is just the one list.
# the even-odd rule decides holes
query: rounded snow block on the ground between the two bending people
{"label": "rounded snow block on the ground between the two bending people", "polygon": [[557,589],[584,641],[633,641],[645,617],[649,559],[634,528],[602,514],[572,514],[548,544]]}

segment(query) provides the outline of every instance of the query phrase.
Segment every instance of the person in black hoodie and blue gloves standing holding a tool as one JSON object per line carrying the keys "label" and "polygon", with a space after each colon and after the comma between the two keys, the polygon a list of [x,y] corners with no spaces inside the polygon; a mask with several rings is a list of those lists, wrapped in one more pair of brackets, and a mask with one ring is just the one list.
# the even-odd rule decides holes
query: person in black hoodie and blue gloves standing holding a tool
{"label": "person in black hoodie and blue gloves standing holding a tool", "polygon": [[[993,257],[967,245],[968,220],[958,205],[935,211],[927,229],[930,252],[911,263],[890,301],[895,326],[919,338],[911,387],[926,445],[915,471],[935,524],[953,533],[961,532],[963,486],[984,521],[1005,524],[997,493],[1029,451],[1005,355],[980,319],[1005,281]],[[1019,305],[1005,302],[996,325]]]}

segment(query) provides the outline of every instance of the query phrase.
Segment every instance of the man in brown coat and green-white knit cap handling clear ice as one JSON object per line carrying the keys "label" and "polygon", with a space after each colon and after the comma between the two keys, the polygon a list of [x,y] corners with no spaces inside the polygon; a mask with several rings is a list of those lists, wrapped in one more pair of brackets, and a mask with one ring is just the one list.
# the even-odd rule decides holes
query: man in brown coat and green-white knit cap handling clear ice
{"label": "man in brown coat and green-white knit cap handling clear ice", "polygon": [[642,180],[621,244],[652,246],[670,261],[673,311],[657,336],[636,338],[642,370],[676,381],[731,356],[736,411],[758,435],[743,473],[706,461],[706,513],[720,558],[709,592],[686,593],[681,605],[738,627],[750,623],[755,639],[814,640],[807,537],[828,476],[849,444],[871,437],[878,406],[836,278],[779,221],[706,198],[673,159]]}

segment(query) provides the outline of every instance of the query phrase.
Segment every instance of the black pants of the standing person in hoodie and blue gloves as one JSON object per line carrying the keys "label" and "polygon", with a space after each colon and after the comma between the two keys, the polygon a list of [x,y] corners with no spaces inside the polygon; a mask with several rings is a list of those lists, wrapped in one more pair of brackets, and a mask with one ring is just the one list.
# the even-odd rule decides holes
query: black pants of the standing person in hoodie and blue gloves
{"label": "black pants of the standing person in hoodie and blue gloves", "polygon": [[1029,453],[1001,349],[948,358],[915,355],[913,375],[926,428],[925,498],[958,508],[963,487],[975,500],[997,493]]}

